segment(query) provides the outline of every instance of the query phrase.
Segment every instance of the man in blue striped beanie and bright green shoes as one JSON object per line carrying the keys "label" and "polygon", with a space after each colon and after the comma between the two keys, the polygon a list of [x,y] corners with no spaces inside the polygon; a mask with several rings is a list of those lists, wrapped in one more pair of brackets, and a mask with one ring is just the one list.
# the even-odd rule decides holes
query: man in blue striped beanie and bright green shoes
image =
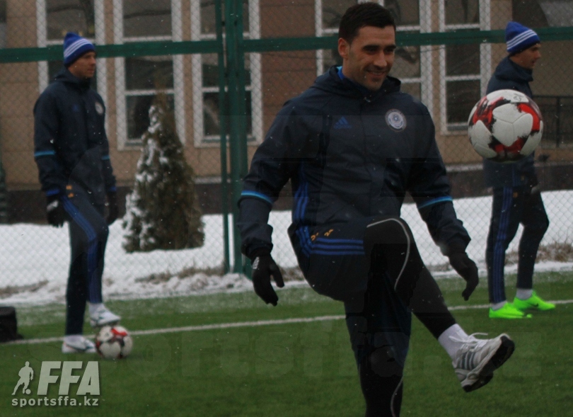
{"label": "man in blue striped beanie and bright green shoes", "polygon": [[[529,83],[533,81],[533,67],[541,57],[539,36],[530,28],[509,22],[505,40],[508,55],[495,69],[487,84],[487,93],[512,89],[533,98]],[[514,164],[483,161],[485,183],[493,188],[492,219],[485,255],[492,319],[523,319],[531,317],[526,313],[530,309],[555,308],[555,304],[543,301],[533,291],[533,267],[540,241],[549,226],[534,162],[534,154]],[[511,303],[505,296],[505,251],[520,223],[523,234],[519,241],[517,291]]]}

